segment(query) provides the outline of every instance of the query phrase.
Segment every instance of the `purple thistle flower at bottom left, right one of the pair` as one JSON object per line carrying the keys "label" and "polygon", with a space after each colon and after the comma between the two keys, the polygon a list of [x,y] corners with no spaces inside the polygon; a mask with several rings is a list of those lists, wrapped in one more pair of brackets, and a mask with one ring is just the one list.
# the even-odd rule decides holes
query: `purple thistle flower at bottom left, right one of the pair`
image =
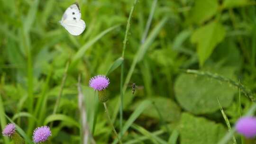
{"label": "purple thistle flower at bottom left, right one of the pair", "polygon": [[37,127],[33,133],[33,141],[36,144],[43,143],[43,142],[46,142],[48,140],[48,137],[51,135],[52,135],[52,132],[49,126]]}

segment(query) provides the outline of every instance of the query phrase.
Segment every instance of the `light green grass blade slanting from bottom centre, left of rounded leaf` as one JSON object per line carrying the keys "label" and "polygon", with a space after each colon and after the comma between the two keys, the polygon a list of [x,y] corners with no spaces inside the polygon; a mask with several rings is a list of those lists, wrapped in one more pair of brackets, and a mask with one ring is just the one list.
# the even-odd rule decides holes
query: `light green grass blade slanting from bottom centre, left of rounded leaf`
{"label": "light green grass blade slanting from bottom centre, left of rounded leaf", "polygon": [[[150,100],[144,100],[141,102],[141,104],[135,109],[135,111],[131,114],[131,116],[128,118],[126,123],[124,124],[122,131],[119,133],[119,137],[121,137],[128,128],[133,124],[133,122],[137,119],[137,117],[140,116],[140,114],[149,106],[152,104],[152,101]],[[117,144],[118,140],[115,139],[115,141],[112,144]]]}

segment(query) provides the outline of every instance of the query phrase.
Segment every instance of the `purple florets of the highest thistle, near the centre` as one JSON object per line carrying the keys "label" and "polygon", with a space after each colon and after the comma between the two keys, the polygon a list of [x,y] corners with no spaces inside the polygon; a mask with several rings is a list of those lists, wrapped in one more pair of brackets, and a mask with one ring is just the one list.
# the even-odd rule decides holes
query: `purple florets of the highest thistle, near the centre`
{"label": "purple florets of the highest thistle, near the centre", "polygon": [[89,86],[94,90],[105,90],[110,84],[110,79],[105,75],[97,75],[91,78]]}

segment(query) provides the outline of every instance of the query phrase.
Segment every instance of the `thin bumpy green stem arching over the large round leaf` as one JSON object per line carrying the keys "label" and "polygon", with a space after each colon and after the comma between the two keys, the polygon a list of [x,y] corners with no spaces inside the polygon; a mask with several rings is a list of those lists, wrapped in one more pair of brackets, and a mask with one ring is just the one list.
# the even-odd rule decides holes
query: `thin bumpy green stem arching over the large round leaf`
{"label": "thin bumpy green stem arching over the large round leaf", "polygon": [[210,72],[202,72],[202,71],[197,71],[197,70],[181,70],[182,72],[185,73],[189,73],[189,74],[196,74],[196,75],[201,75],[201,76],[207,76],[219,81],[224,81],[224,82],[228,82],[229,84],[237,87],[238,89],[240,89],[242,91],[242,93],[249,99],[251,99],[251,101],[256,102],[256,99],[254,98],[254,94],[248,90],[244,85],[242,85],[241,83],[238,83],[236,81],[230,80],[228,78],[225,78],[219,74],[216,73],[210,73]]}

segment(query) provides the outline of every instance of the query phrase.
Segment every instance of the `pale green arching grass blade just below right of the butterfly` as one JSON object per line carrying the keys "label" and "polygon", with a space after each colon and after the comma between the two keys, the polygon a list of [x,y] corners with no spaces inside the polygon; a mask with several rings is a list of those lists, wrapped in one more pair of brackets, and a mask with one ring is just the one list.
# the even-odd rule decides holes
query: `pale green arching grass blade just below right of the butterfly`
{"label": "pale green arching grass blade just below right of the butterfly", "polygon": [[117,28],[119,26],[120,25],[116,25],[116,26],[113,26],[113,27],[110,27],[110,28],[104,30],[99,35],[94,37],[92,40],[87,42],[85,45],[82,45],[82,47],[78,50],[78,52],[76,52],[76,54],[72,58],[72,64],[71,65],[73,66],[73,64],[75,64],[80,58],[82,58],[83,54],[91,47],[91,45],[93,45],[99,39],[101,39],[102,36],[105,36],[107,33],[109,33],[110,31],[114,30],[115,28]]}

